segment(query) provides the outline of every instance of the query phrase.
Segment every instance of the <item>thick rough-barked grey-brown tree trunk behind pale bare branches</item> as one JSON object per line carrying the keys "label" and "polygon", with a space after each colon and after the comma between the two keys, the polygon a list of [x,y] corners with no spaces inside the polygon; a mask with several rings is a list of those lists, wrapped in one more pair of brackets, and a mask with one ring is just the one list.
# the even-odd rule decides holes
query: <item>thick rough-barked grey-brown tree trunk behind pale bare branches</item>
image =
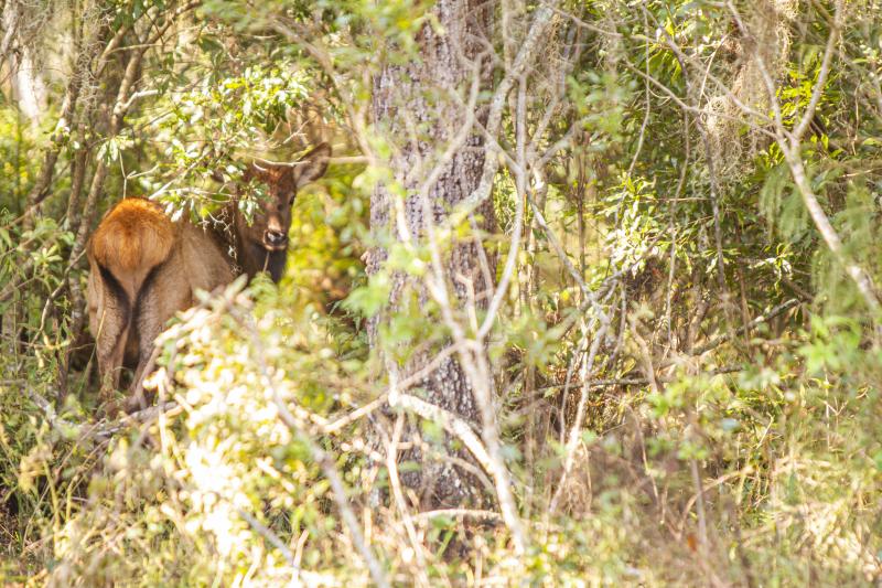
{"label": "thick rough-barked grey-brown tree trunk behind pale bare branches", "polygon": [[[427,228],[443,223],[451,209],[466,199],[480,181],[484,167],[484,139],[474,128],[467,135],[463,129],[473,121],[483,124],[486,109],[467,113],[470,93],[488,86],[491,64],[482,55],[486,44],[490,10],[486,2],[476,0],[440,0],[434,9],[440,26],[423,25],[416,36],[418,58],[407,65],[386,65],[374,79],[375,124],[392,147],[391,171],[396,182],[408,190],[404,201],[407,232],[413,239],[427,237]],[[460,99],[452,96],[459,93]],[[459,139],[456,136],[459,133]],[[461,141],[464,138],[464,141]],[[449,146],[461,142],[455,150],[439,158]],[[439,161],[440,159],[440,161]],[[427,164],[427,161],[430,163]],[[435,180],[421,195],[417,188],[435,170]],[[419,170],[415,173],[415,170]],[[428,203],[423,200],[428,194]],[[391,232],[402,238],[396,226],[395,200],[388,185],[378,185],[370,202],[370,228],[374,235]],[[430,217],[427,217],[430,216]],[[493,206],[487,199],[475,211],[472,226],[482,231],[494,226]],[[368,275],[376,274],[388,252],[377,248],[367,261]],[[482,300],[493,279],[492,264],[477,239],[455,243],[444,258],[448,291],[453,303],[465,303],[471,282],[475,298]],[[482,259],[484,264],[482,265]],[[483,268],[483,270],[482,270]],[[464,279],[463,279],[464,278]],[[408,306],[418,302],[426,308],[429,296],[420,280],[402,272],[392,276],[389,306],[385,317],[375,318],[368,325],[372,348],[379,342],[378,325],[389,314],[407,312]],[[478,302],[478,306],[481,303]],[[412,312],[413,309],[410,309]],[[440,318],[438,319],[440,322]],[[437,352],[437,350],[435,350]],[[390,379],[402,381],[424,368],[437,353],[423,351],[412,356],[406,365],[386,359]],[[465,420],[480,423],[480,411],[470,383],[455,354],[440,362],[437,368],[421,378],[413,389],[423,391],[424,398]],[[405,440],[413,440],[418,428],[410,426]],[[448,448],[453,461],[469,459],[463,451]],[[406,452],[405,460],[421,463],[421,471],[402,474],[402,482],[418,491],[424,505],[452,505],[477,502],[475,479],[454,466],[451,460],[439,461],[426,456],[419,447]],[[428,504],[427,504],[428,503]]]}

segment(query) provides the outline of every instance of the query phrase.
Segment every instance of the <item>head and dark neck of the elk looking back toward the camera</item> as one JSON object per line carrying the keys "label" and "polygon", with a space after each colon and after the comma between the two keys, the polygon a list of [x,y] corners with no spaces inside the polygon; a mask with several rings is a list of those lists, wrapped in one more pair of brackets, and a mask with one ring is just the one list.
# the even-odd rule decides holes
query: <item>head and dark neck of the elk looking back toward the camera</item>
{"label": "head and dark neck of the elk looking back toward the camera", "polygon": [[294,197],[300,188],[324,174],[330,157],[331,147],[321,143],[293,163],[255,161],[245,171],[243,184],[260,184],[266,196],[258,203],[250,224],[238,206],[234,206],[238,260],[249,278],[268,271],[273,281],[281,279]]}

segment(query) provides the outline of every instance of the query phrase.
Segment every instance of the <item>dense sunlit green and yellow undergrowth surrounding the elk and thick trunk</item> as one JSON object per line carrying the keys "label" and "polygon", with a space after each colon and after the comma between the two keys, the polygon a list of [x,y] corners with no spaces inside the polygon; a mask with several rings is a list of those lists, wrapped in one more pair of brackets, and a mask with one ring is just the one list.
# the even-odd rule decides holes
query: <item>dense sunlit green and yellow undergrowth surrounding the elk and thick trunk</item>
{"label": "dense sunlit green and yellow undergrowth surrounding the elk and thick trunk", "polygon": [[[136,22],[137,7],[153,7],[111,4]],[[813,100],[837,6],[733,4],[765,41],[786,129]],[[420,463],[388,459],[409,443],[428,456],[448,446],[441,424],[412,415],[420,435],[401,438],[408,411],[388,406],[390,383],[369,349],[366,323],[388,284],[366,277],[363,254],[380,238],[368,203],[387,170],[352,156],[388,146],[353,121],[362,113],[346,98],[364,99],[361,75],[381,58],[368,51],[370,31],[408,51],[424,8],[266,7],[322,40],[332,79],[314,53],[263,34],[244,4],[207,3],[207,24],[187,21],[144,62],[143,88],[157,93],[129,114],[137,132],[101,135],[100,108],[84,114],[94,129],[68,129],[39,214],[25,214],[29,192],[61,105],[31,125],[2,103],[0,581],[366,585],[365,550],[394,585],[882,581],[880,317],[845,269],[882,279],[878,3],[845,9],[836,67],[799,143],[840,257],[770,137],[773,117],[733,106],[772,109],[732,11],[650,1],[556,13],[547,51],[578,46],[581,56],[568,53],[558,97],[570,106],[552,110],[536,140],[570,139],[521,202],[525,242],[487,344],[524,554],[487,472],[465,464],[483,503],[419,509],[419,492],[399,479]],[[538,9],[518,10],[526,29]],[[530,75],[557,73],[541,63]],[[92,92],[92,106],[111,94]],[[530,128],[548,105],[536,92]],[[90,165],[111,163],[96,212],[125,192],[197,215],[225,197],[214,172],[235,178],[255,133],[290,154],[280,139],[310,127],[292,115],[309,108],[321,111],[315,132],[348,159],[298,196],[282,281],[239,280],[182,313],[159,339],[149,378],[160,409],[98,418],[71,286],[85,281],[82,259],[71,259],[74,142],[87,141]],[[505,118],[502,132],[515,126]],[[484,235],[497,277],[519,197],[498,173],[498,232]],[[453,229],[471,235],[462,225]],[[390,263],[413,275],[428,258],[396,255]],[[435,310],[390,321],[384,344],[440,348],[449,332]]]}

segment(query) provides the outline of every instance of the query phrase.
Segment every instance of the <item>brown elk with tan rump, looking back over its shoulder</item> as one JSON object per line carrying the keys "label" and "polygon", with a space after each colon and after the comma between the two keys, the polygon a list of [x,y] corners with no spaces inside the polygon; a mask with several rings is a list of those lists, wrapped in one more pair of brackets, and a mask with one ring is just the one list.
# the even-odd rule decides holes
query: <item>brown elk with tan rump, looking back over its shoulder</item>
{"label": "brown elk with tan rump, looking back over its shoulder", "polygon": [[86,249],[103,399],[119,387],[122,370],[131,370],[127,409],[135,408],[153,341],[175,312],[194,304],[196,290],[212,291],[243,274],[281,279],[294,196],[324,174],[330,157],[321,143],[292,164],[251,163],[243,185],[258,182],[268,194],[251,223],[237,205],[241,185],[213,223],[172,222],[159,204],[140,197],[123,199],[105,214]]}

